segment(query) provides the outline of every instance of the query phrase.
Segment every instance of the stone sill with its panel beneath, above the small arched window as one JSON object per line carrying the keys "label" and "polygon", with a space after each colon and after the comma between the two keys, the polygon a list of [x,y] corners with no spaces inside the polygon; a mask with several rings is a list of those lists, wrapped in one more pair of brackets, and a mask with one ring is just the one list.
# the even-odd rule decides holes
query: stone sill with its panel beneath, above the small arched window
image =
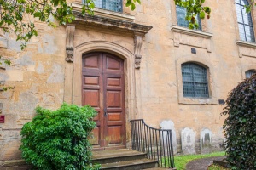
{"label": "stone sill with its panel beneath, above the small arched window", "polygon": [[189,30],[182,26],[171,26],[171,30],[173,32],[173,42],[175,47],[179,47],[179,44],[183,44],[198,48],[206,48],[208,53],[212,52],[211,33]]}

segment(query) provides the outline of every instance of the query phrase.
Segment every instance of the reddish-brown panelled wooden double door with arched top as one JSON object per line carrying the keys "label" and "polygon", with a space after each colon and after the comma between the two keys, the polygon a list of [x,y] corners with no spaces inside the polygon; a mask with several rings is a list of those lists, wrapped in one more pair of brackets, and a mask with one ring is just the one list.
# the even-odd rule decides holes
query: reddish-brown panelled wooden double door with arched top
{"label": "reddish-brown panelled wooden double door with arched top", "polygon": [[83,56],[83,105],[98,111],[90,139],[94,148],[125,146],[124,61],[108,53]]}

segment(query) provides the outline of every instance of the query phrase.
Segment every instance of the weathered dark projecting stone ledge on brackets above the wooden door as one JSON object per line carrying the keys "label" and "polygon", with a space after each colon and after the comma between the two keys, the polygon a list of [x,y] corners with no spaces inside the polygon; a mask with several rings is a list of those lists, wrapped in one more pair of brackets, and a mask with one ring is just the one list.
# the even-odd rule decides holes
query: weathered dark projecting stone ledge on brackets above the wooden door
{"label": "weathered dark projecting stone ledge on brackets above the wooden door", "polygon": [[74,12],[74,15],[75,20],[73,21],[73,24],[76,26],[87,26],[90,24],[93,26],[108,26],[108,28],[119,28],[123,31],[137,31],[143,34],[148,33],[148,31],[152,29],[152,26],[144,26],[125,20],[114,20],[89,14],[85,14],[85,16],[83,16],[79,12]]}

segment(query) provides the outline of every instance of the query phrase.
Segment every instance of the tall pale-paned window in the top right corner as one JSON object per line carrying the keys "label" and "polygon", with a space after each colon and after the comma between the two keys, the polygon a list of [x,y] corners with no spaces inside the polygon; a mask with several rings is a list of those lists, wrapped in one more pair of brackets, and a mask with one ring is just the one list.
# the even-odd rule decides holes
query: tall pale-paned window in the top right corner
{"label": "tall pale-paned window in the top right corner", "polygon": [[236,0],[236,16],[241,40],[255,42],[251,13],[246,13],[247,0]]}

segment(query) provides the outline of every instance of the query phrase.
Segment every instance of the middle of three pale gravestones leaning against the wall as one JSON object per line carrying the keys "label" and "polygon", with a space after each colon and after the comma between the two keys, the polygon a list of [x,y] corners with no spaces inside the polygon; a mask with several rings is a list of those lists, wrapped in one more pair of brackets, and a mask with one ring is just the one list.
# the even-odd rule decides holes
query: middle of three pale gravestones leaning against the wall
{"label": "middle of three pale gravestones leaning against the wall", "polygon": [[181,132],[183,155],[195,154],[195,132],[186,127]]}

